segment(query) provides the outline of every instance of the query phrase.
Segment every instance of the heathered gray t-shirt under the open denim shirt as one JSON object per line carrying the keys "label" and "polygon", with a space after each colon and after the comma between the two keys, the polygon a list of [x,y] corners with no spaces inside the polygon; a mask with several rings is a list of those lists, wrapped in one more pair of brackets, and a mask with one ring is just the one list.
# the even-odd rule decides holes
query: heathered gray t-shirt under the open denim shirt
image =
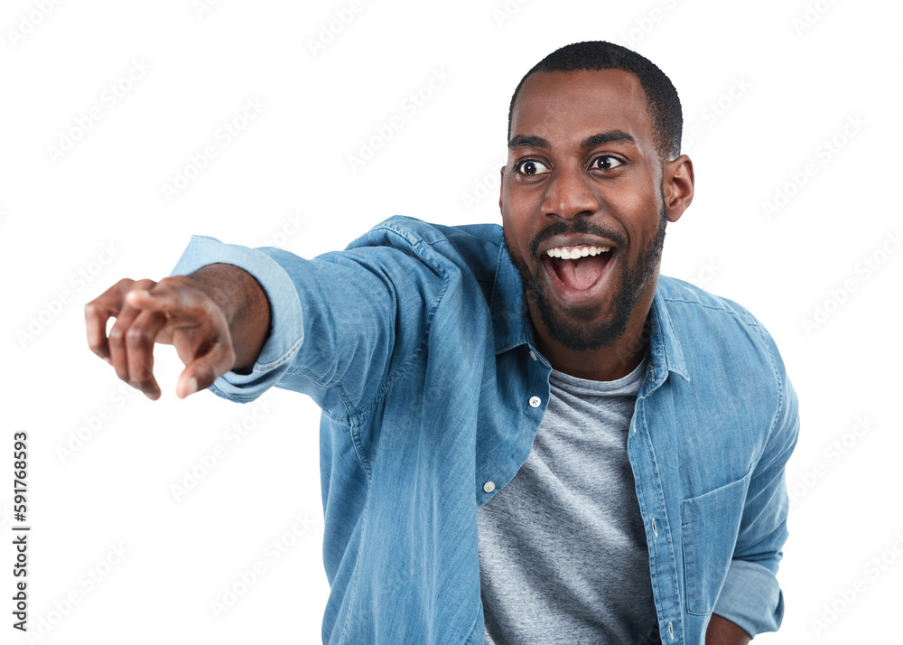
{"label": "heathered gray t-shirt under the open denim shirt", "polygon": [[627,456],[647,360],[614,381],[553,369],[533,450],[477,510],[489,645],[661,642]]}

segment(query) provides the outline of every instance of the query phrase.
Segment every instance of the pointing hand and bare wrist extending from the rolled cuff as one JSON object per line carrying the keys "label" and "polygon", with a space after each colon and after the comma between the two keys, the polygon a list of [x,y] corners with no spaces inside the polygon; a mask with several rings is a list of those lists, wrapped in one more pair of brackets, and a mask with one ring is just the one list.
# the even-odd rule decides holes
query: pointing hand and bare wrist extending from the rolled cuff
{"label": "pointing hand and bare wrist extending from the rolled cuff", "polygon": [[[107,321],[116,322],[107,336]],[[154,343],[174,345],[185,364],[176,394],[208,388],[229,370],[247,372],[270,327],[266,294],[244,269],[202,266],[159,282],[123,279],[85,305],[88,347],[116,376],[152,400]]]}

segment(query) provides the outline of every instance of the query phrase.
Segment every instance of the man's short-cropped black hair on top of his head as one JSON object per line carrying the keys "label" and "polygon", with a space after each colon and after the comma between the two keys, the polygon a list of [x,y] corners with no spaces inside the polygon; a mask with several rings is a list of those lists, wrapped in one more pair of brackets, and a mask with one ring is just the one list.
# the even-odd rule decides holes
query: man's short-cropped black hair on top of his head
{"label": "man's short-cropped black hair on top of his head", "polygon": [[511,139],[511,116],[514,102],[524,81],[537,71],[624,70],[639,79],[646,92],[649,116],[655,130],[658,153],[663,159],[680,155],[680,140],[684,129],[684,115],[677,90],[665,72],[636,51],[628,50],[612,42],[573,42],[557,49],[535,64],[517,84],[511,105],[508,107],[508,134]]}

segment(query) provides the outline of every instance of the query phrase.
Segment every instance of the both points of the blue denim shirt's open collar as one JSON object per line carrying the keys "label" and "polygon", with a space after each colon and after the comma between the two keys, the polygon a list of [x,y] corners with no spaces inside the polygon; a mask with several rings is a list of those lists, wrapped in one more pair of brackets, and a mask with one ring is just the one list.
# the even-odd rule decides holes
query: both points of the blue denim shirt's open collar
{"label": "both points of the blue denim shirt's open collar", "polygon": [[[529,315],[526,309],[524,284],[520,279],[520,274],[517,273],[517,267],[511,262],[511,257],[504,244],[499,244],[498,247],[498,262],[489,310],[492,313],[496,354],[524,343],[531,349],[535,349],[533,332],[530,329]],[[686,371],[684,349],[677,337],[671,313],[668,311],[665,297],[662,294],[661,281],[656,286],[656,295],[652,300],[649,317],[651,322],[649,346],[652,386],[656,388],[665,382],[669,372],[675,372],[684,379],[690,380]]]}

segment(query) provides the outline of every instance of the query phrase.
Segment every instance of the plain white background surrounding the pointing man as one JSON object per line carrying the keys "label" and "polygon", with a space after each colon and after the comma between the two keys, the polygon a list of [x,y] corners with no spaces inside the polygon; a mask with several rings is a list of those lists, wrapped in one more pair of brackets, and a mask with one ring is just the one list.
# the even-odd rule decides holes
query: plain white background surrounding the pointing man
{"label": "plain white background surrounding the pointing man", "polygon": [[[181,401],[169,347],[157,352],[163,397],[129,396],[88,351],[82,306],[120,277],[168,275],[192,233],[312,257],[396,213],[500,222],[517,82],[563,44],[612,40],[665,70],[684,105],[696,195],[668,229],[662,272],[755,313],[801,401],[787,615],[756,641],[903,642],[898,3],[40,6],[0,11],[0,641],[26,641],[11,628],[9,545],[13,433],[26,431],[41,641],[319,642],[318,409],[284,391],[269,409]],[[330,28],[337,12],[353,17]],[[313,39],[330,42],[312,51]],[[128,80],[133,61],[149,69]],[[403,108],[434,70],[450,78]],[[126,89],[115,105],[111,84]],[[218,129],[249,99],[265,108],[226,145]],[[79,133],[92,108],[100,118]],[[401,129],[353,172],[349,155],[392,117]],[[79,141],[64,145],[67,133]],[[193,173],[206,145],[217,156]],[[194,178],[167,199],[179,172]],[[230,431],[243,423],[246,436]],[[243,588],[254,566],[264,573]],[[236,585],[217,615],[211,603]]]}

